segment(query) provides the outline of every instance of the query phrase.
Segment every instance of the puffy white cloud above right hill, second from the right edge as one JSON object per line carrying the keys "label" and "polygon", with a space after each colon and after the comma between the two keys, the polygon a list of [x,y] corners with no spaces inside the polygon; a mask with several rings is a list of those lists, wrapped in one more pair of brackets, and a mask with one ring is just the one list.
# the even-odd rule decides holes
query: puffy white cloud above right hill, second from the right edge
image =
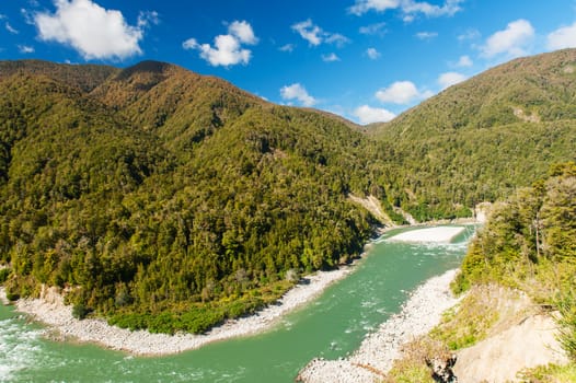
{"label": "puffy white cloud above right hill, second from the right edge", "polygon": [[510,57],[526,55],[526,46],[534,37],[534,28],[529,21],[520,19],[508,23],[505,30],[488,37],[482,47],[485,57],[506,54]]}

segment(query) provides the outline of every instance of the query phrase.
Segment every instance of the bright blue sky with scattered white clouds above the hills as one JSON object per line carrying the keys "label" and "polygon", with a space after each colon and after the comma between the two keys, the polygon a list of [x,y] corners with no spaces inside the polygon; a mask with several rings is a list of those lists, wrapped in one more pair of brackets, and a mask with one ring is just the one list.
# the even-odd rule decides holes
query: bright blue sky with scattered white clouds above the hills
{"label": "bright blue sky with scattered white clouds above the hills", "polygon": [[576,0],[0,0],[0,59],[168,61],[360,124],[566,47]]}

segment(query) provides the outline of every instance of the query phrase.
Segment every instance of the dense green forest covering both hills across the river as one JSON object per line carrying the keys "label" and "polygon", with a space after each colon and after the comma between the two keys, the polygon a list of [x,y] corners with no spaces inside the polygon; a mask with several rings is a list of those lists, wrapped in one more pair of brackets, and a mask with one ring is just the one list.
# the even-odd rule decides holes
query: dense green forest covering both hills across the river
{"label": "dense green forest covering both hills across the river", "polygon": [[[493,78],[525,67],[534,121]],[[0,62],[0,282],[11,299],[60,287],[79,317],[204,332],[356,257],[381,223],[350,195],[399,223],[466,217],[574,160],[573,67],[575,50],[512,61],[380,130],[169,63]],[[454,128],[477,113],[453,97],[485,103],[471,89],[508,108]]]}

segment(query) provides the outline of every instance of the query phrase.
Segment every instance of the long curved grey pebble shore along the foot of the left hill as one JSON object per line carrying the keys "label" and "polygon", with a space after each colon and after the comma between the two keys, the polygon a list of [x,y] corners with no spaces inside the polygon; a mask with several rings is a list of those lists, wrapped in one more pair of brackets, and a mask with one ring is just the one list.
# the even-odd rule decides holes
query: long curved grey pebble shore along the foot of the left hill
{"label": "long curved grey pebble shore along the foot of the left hill", "polygon": [[[42,299],[21,299],[15,305],[19,312],[31,315],[48,326],[46,335],[53,338],[74,339],[95,343],[104,347],[140,356],[162,356],[197,349],[209,343],[261,333],[273,327],[290,311],[310,302],[330,285],[343,279],[354,266],[343,266],[334,271],[318,271],[307,276],[303,283],[289,290],[276,304],[256,314],[228,321],[204,335],[193,334],[151,334],[147,330],[119,328],[108,325],[104,320],[76,320],[72,307],[64,304],[64,299],[54,289],[45,289]],[[8,303],[5,291],[0,288],[0,301]]]}

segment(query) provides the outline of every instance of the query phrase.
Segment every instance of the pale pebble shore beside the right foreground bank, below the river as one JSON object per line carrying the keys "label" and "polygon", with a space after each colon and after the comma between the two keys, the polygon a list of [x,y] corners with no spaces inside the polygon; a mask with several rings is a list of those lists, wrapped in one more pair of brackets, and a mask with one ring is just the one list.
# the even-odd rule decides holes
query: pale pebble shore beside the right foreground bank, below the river
{"label": "pale pebble shore beside the right foreground bank, below the river", "polygon": [[369,334],[360,348],[341,360],[313,359],[298,374],[306,383],[372,383],[381,381],[394,360],[401,357],[401,346],[428,333],[441,320],[441,314],[458,303],[450,292],[457,269],[428,279],[421,285],[399,314]]}

